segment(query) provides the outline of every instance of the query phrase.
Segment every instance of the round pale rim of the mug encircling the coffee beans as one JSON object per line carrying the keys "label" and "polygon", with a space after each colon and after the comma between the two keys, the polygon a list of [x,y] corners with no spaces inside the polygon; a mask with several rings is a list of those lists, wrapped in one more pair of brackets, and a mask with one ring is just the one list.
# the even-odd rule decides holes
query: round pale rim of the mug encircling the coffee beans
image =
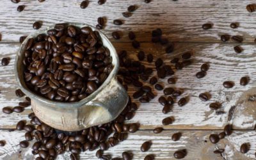
{"label": "round pale rim of the mug encircling the coffee beans", "polygon": [[17,52],[16,56],[15,56],[15,65],[14,65],[14,72],[15,72],[15,77],[16,80],[18,82],[18,86],[20,88],[20,90],[22,90],[22,92],[24,92],[28,97],[30,97],[31,99],[36,99],[39,100],[40,102],[44,102],[46,104],[52,104],[52,107],[56,107],[56,108],[79,108],[81,107],[81,104],[85,104],[86,102],[89,102],[90,100],[93,100],[99,92],[101,92],[104,89],[104,86],[108,85],[112,79],[115,79],[116,74],[118,72],[118,69],[120,67],[119,64],[119,58],[118,55],[116,53],[116,49],[113,46],[113,44],[110,42],[108,36],[106,36],[104,33],[102,33],[102,31],[100,31],[99,29],[91,26],[90,24],[85,24],[85,23],[76,23],[76,22],[65,22],[63,24],[66,25],[72,25],[72,26],[79,26],[79,28],[83,28],[83,27],[90,27],[92,28],[93,31],[98,31],[100,34],[101,39],[106,40],[106,42],[109,44],[109,52],[111,54],[111,52],[113,53],[113,55],[111,55],[112,60],[115,58],[116,63],[113,64],[113,69],[111,70],[110,74],[108,75],[107,79],[104,81],[104,83],[102,83],[99,88],[97,90],[95,90],[95,92],[93,92],[92,94],[88,95],[88,97],[81,99],[77,102],[58,102],[55,100],[50,100],[50,99],[46,99],[45,97],[42,97],[40,95],[37,95],[36,93],[33,93],[31,90],[29,90],[29,88],[27,88],[26,86],[23,86],[20,77],[19,77],[19,72],[18,72],[18,59],[20,58],[21,54],[23,54],[24,51],[24,47],[26,45],[26,42],[28,42],[29,38],[35,38],[35,36],[41,34],[41,33],[46,33],[47,30],[54,28],[54,25],[48,26],[47,28],[40,28],[37,31],[29,34],[26,39],[22,42],[22,44],[19,47],[19,51]]}

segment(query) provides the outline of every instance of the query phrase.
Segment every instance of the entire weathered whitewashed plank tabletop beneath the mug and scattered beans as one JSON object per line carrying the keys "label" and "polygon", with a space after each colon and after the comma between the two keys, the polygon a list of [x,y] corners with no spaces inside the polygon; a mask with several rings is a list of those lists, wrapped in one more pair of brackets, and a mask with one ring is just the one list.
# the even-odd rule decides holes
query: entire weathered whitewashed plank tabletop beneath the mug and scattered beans
{"label": "entire weathered whitewashed plank tabletop beneath the mug and scattered beans", "polygon": [[[11,3],[10,0],[1,1],[0,59],[11,58],[10,65],[0,67],[1,109],[5,106],[17,106],[22,100],[15,97],[17,82],[13,74],[13,64],[20,46],[19,37],[33,33],[33,22],[42,20],[42,28],[59,22],[83,22],[95,26],[97,17],[106,17],[108,22],[104,33],[111,37],[111,31],[122,32],[121,40],[111,38],[117,51],[125,49],[129,56],[136,58],[138,50],[132,48],[127,38],[128,31],[134,31],[137,40],[141,42],[141,49],[154,54],[154,60],[161,57],[166,64],[170,64],[173,57],[193,51],[193,64],[175,72],[173,77],[177,78],[176,84],[168,84],[167,78],[160,80],[164,86],[182,89],[184,93],[180,97],[189,97],[188,104],[183,107],[175,104],[172,111],[164,115],[162,106],[157,102],[163,92],[155,91],[157,97],[148,104],[140,104],[134,118],[129,121],[140,122],[140,131],[129,134],[127,140],[110,148],[105,154],[121,157],[122,152],[128,150],[134,154],[134,159],[143,159],[147,154],[154,154],[156,159],[173,159],[175,150],[186,148],[188,155],[185,159],[255,159],[256,103],[248,101],[248,97],[255,93],[253,88],[256,86],[256,12],[246,11],[246,5],[255,1],[153,0],[146,4],[143,0],[107,0],[106,4],[100,6],[95,0],[90,1],[86,9],[81,9],[80,3],[81,0],[46,0],[44,3],[22,0],[19,4]],[[21,4],[26,8],[23,12],[17,12],[17,6]],[[122,17],[122,12],[131,4],[136,4],[138,10],[132,17]],[[124,25],[114,26],[114,19],[123,19]],[[206,22],[214,24],[213,28],[202,29],[202,24]],[[230,28],[231,22],[238,22],[239,28]],[[150,42],[150,31],[156,28],[163,29],[163,36],[174,42],[175,51],[172,54],[165,54],[163,46]],[[243,36],[244,42],[239,45],[244,51],[237,54],[234,46],[238,44],[231,41],[221,42],[220,35],[223,34]],[[205,62],[210,66],[207,76],[197,79],[195,74]],[[153,67],[152,64],[143,63]],[[239,84],[243,76],[250,77],[247,86]],[[230,89],[223,88],[222,83],[227,80],[234,81],[235,86]],[[129,93],[132,95],[134,90],[135,88],[131,88]],[[211,99],[207,102],[198,99],[198,95],[204,92],[211,93]],[[221,110],[225,111],[224,114],[216,115],[209,108],[209,104],[216,101],[222,103]],[[234,109],[234,114],[228,120],[230,108]],[[6,140],[6,145],[0,147],[0,159],[33,159],[31,148],[19,147],[19,141],[24,140],[24,131],[8,131],[15,129],[19,120],[25,119],[29,122],[30,112],[30,108],[23,113],[11,115],[0,111],[0,140]],[[173,124],[164,126],[161,134],[154,134],[152,130],[161,126],[161,121],[167,116],[175,118]],[[209,135],[221,132],[228,123],[235,129],[232,135],[213,145],[209,141]],[[178,131],[182,132],[182,138],[172,141],[172,134]],[[140,146],[146,140],[152,140],[153,144],[148,152],[143,153]],[[242,143],[250,143],[247,154],[239,152]],[[225,148],[225,153],[214,154],[213,150],[216,148]],[[83,152],[80,157],[97,159],[95,152]],[[69,159],[69,154],[59,156],[58,159]]]}

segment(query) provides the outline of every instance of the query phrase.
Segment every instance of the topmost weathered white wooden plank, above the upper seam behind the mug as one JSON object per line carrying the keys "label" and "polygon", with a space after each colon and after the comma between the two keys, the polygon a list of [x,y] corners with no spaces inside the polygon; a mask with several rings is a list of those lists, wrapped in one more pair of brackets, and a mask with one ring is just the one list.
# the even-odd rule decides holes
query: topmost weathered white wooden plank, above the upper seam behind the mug
{"label": "topmost weathered white wooden plank, above the upper seam behind the mug", "polygon": [[[97,1],[90,1],[88,8],[80,8],[81,1],[51,0],[39,3],[38,1],[24,0],[19,3],[26,7],[23,12],[17,12],[18,4],[8,0],[1,1],[0,33],[2,42],[18,42],[19,37],[33,32],[33,22],[42,20],[43,27],[58,22],[84,22],[95,26],[98,17],[106,17],[107,25],[104,30],[110,37],[111,31],[135,31],[145,42],[150,36],[144,36],[152,29],[162,28],[164,36],[175,42],[220,42],[220,35],[243,35],[244,42],[253,42],[256,29],[253,27],[256,13],[249,13],[246,5],[255,3],[253,0],[187,0],[170,1],[154,0],[145,4],[142,0],[111,0],[104,5]],[[122,12],[127,7],[136,4],[132,17],[124,18]],[[113,9],[115,8],[115,9]],[[114,19],[125,20],[121,27],[114,26]],[[203,30],[202,24],[211,22],[212,29]],[[230,23],[238,22],[239,28],[231,29]]]}

